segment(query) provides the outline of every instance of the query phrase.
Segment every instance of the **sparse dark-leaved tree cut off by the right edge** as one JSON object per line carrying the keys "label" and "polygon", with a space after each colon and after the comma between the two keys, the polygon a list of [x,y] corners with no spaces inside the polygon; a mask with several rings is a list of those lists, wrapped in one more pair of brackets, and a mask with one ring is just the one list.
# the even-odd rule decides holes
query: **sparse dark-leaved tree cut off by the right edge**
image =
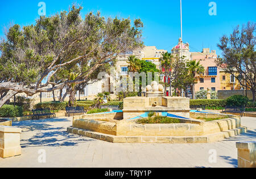
{"label": "sparse dark-leaved tree cut off by the right edge", "polygon": [[253,101],[256,91],[255,25],[248,22],[241,29],[238,25],[232,34],[222,36],[218,44],[222,58],[217,59],[218,66],[233,75],[242,87],[251,90]]}

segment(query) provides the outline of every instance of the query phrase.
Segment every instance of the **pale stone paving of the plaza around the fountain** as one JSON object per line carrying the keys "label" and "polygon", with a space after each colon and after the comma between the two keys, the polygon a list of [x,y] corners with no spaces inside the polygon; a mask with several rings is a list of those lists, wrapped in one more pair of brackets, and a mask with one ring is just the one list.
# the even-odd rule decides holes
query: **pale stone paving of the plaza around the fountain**
{"label": "pale stone paving of the plaza around the fountain", "polygon": [[[0,167],[237,167],[236,142],[256,140],[253,117],[242,118],[248,133],[203,144],[108,143],[68,134],[71,125],[72,117],[14,122],[22,128],[22,155],[0,158]],[[216,163],[209,162],[212,150]]]}

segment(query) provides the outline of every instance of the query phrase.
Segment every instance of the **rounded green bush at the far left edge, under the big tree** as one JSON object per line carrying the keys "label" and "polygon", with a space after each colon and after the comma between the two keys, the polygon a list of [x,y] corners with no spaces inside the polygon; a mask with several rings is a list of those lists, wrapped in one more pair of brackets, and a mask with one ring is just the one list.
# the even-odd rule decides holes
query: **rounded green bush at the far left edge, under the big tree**
{"label": "rounded green bush at the far left edge, under the big tree", "polygon": [[22,117],[23,108],[21,106],[3,105],[0,108],[0,117]]}

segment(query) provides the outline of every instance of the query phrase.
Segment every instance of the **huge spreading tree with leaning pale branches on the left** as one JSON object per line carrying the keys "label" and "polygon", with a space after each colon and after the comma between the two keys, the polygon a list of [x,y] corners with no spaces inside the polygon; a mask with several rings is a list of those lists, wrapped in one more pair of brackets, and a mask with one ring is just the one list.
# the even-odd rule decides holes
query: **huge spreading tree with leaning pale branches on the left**
{"label": "huge spreading tree with leaning pale branches on the left", "polygon": [[[10,27],[0,45],[0,107],[16,93],[32,96],[84,83],[119,54],[143,45],[140,19],[132,25],[130,19],[105,19],[92,12],[82,19],[81,9],[72,6],[22,29],[18,24]],[[53,82],[52,76],[68,65],[81,67],[76,79]]]}

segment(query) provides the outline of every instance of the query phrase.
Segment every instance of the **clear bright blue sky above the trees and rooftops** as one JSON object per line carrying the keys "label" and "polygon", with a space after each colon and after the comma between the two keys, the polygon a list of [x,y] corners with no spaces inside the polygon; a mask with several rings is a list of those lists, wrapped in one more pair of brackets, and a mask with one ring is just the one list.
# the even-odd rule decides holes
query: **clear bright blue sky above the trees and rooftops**
{"label": "clear bright blue sky above the trees and rooftops", "polygon": [[[73,2],[81,4],[84,16],[89,11],[101,11],[104,16],[118,18],[141,18],[144,23],[143,41],[145,45],[158,49],[171,50],[180,37],[179,0],[39,0],[39,1],[1,1],[0,35],[9,23],[28,25],[39,18],[38,3],[46,3],[46,15],[68,10]],[[210,16],[209,2],[216,2],[217,15]],[[222,35],[230,34],[238,24],[256,20],[255,0],[183,0],[183,41],[189,42],[192,52],[204,48],[217,49]]]}

